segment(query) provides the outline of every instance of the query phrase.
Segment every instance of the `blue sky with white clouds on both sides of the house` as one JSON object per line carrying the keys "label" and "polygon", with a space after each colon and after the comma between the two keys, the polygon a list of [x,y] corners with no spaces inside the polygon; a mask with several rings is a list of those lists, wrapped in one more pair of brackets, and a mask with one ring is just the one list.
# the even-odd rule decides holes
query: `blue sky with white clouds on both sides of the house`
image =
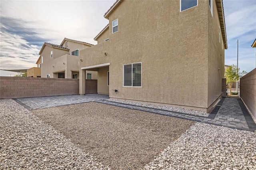
{"label": "blue sky with white clouds on both sides of the house", "polygon": [[[60,44],[66,37],[96,44],[94,37],[108,24],[105,12],[116,0],[0,0],[0,69],[36,67],[44,42]],[[256,0],[223,0],[228,49],[225,65],[241,71],[256,67]]]}

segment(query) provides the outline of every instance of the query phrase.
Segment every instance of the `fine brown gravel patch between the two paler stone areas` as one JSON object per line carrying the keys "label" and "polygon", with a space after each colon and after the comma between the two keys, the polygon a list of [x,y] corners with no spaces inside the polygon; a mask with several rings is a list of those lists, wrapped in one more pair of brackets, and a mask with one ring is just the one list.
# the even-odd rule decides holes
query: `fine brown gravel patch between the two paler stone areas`
{"label": "fine brown gravel patch between the two paler stone areas", "polygon": [[113,170],[144,168],[194,125],[192,121],[94,102],[32,113]]}

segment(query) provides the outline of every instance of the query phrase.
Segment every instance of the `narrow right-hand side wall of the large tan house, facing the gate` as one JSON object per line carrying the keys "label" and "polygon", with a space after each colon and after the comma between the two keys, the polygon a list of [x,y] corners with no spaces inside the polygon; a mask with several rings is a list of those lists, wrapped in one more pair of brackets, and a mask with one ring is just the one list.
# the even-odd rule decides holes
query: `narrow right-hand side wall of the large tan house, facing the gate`
{"label": "narrow right-hand side wall of the large tan house, facing the gate", "polygon": [[217,7],[215,1],[213,1],[213,13],[208,7],[208,107],[222,94],[225,53],[224,45],[222,49],[221,32],[219,42],[219,26]]}

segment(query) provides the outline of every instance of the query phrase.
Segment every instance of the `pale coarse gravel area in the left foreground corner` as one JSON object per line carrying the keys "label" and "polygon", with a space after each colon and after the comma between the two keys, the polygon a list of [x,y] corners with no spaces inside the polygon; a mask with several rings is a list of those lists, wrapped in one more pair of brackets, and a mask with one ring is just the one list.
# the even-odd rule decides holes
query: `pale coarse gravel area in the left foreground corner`
{"label": "pale coarse gravel area in the left foreground corner", "polygon": [[108,169],[12,99],[0,100],[0,169]]}

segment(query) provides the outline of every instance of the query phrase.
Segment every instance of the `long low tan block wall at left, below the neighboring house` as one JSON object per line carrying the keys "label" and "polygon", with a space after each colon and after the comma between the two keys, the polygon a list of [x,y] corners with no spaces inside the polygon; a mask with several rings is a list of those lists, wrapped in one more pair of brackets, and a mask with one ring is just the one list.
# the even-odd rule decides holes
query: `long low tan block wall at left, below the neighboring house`
{"label": "long low tan block wall at left, below the neighboring house", "polygon": [[79,79],[0,77],[0,99],[78,94]]}

